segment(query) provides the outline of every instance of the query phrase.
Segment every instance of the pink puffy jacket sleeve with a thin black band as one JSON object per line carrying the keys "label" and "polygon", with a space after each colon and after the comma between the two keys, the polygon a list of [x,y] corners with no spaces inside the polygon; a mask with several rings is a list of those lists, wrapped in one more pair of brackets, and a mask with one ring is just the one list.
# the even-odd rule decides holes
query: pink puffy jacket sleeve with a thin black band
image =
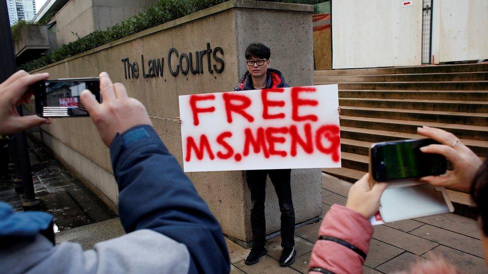
{"label": "pink puffy jacket sleeve with a thin black band", "polygon": [[310,273],[362,273],[363,257],[369,250],[372,235],[373,228],[364,216],[333,205],[318,230],[319,240],[310,257]]}

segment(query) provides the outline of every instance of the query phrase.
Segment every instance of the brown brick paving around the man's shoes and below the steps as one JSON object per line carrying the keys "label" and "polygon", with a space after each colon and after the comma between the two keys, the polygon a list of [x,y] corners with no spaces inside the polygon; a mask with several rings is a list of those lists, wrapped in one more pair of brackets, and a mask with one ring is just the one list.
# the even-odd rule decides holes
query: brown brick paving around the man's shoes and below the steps
{"label": "brown brick paving around the man's shoes and below the steps", "polygon": [[[322,213],[333,204],[345,205],[350,183],[322,175]],[[322,215],[323,216],[323,215]],[[226,240],[230,273],[306,273],[320,223],[295,231],[297,257],[289,268],[278,265],[279,237],[267,243],[268,255],[259,263],[246,266],[249,250]],[[466,273],[487,273],[476,222],[454,214],[444,214],[375,226],[364,273],[392,273],[407,269],[417,260],[440,254]]]}

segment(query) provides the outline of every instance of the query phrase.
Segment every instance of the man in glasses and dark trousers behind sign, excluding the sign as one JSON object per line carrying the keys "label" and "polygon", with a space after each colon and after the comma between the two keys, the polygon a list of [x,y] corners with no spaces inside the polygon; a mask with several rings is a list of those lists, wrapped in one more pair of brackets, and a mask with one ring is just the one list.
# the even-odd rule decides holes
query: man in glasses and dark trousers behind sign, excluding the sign
{"label": "man in glasses and dark trousers behind sign, excluding the sign", "polygon": [[[245,50],[247,72],[244,73],[234,90],[253,90],[264,88],[288,87],[284,77],[276,69],[268,68],[271,50],[260,43],[252,43]],[[274,186],[281,212],[281,257],[279,265],[287,267],[293,264],[296,251],[293,246],[295,232],[295,211],[291,200],[291,169],[261,169],[245,171],[247,187],[251,194],[251,229],[252,249],[245,258],[246,265],[252,265],[266,254],[266,221],[264,217],[264,199],[266,195],[266,176]]]}

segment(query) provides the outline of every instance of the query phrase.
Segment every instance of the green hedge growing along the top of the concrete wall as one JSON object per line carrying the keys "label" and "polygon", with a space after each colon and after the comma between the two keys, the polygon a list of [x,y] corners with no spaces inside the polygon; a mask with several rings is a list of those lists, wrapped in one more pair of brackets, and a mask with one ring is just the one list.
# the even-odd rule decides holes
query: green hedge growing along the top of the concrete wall
{"label": "green hedge growing along the top of the concrete wall", "polygon": [[[71,57],[106,43],[137,33],[144,29],[183,17],[193,12],[223,3],[226,0],[159,0],[155,6],[129,17],[106,30],[95,30],[75,41],[63,44],[46,55],[18,66],[31,71],[39,67]],[[273,0],[277,2],[316,3],[321,0]]]}

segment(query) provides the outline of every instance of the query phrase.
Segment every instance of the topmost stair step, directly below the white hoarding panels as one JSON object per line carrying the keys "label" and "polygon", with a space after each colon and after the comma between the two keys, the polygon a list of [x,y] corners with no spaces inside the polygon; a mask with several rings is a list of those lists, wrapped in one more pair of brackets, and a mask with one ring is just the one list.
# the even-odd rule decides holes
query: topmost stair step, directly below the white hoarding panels
{"label": "topmost stair step, directly below the white hoarding panels", "polygon": [[313,75],[314,76],[375,75],[375,74],[406,74],[406,73],[452,73],[452,72],[475,72],[475,71],[488,71],[488,63],[316,70],[314,71]]}

